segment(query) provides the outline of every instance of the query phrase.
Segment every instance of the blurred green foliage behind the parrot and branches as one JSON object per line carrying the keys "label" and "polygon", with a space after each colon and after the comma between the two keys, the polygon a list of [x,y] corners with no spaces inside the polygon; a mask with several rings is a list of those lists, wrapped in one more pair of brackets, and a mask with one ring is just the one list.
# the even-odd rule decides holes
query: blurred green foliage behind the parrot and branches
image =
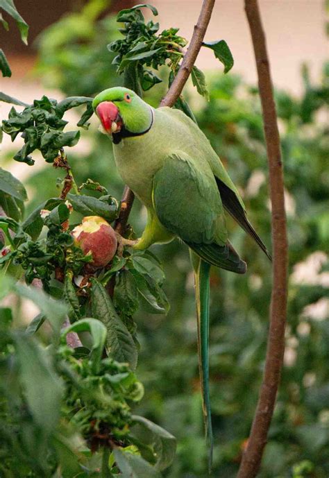
{"label": "blurred green foliage behind the parrot and branches", "polygon": [[[93,2],[96,5],[96,2]],[[95,7],[96,8],[96,7]],[[38,74],[44,84],[69,95],[92,96],[117,85],[106,45],[115,39],[112,18],[94,22],[99,12],[74,14],[44,32],[40,39]],[[74,27],[74,28],[73,28]],[[86,68],[87,65],[87,68]],[[329,99],[329,67],[316,84],[303,67],[301,98],[276,92],[289,194],[289,273],[317,251],[328,253],[329,169],[328,126],[321,112]],[[194,100],[199,126],[226,164],[244,196],[249,219],[265,244],[271,244],[267,162],[260,103],[255,87],[233,73],[208,78],[210,101]],[[157,105],[162,86],[146,94]],[[188,95],[187,95],[188,96]],[[96,128],[85,133],[86,155],[68,151],[77,182],[101,181],[119,197],[123,187],[107,137]],[[41,160],[41,159],[40,159]],[[23,167],[23,166],[22,166]],[[27,167],[27,166],[26,166]],[[32,172],[27,186],[34,191],[27,213],[57,196],[58,171],[46,164]],[[255,185],[259,180],[258,186]],[[252,187],[255,185],[254,187]],[[191,212],[193,214],[193,212]],[[144,212],[136,201],[130,222],[137,232]],[[210,325],[210,391],[214,425],[214,476],[235,475],[251,426],[264,363],[271,266],[246,234],[229,222],[230,239],[248,264],[244,277],[212,270]],[[139,313],[141,344],[137,375],[145,395],[136,413],[153,420],[178,439],[167,478],[207,476],[203,434],[192,270],[185,246],[174,241],[152,249],[165,266],[165,291],[171,304],[167,316]],[[328,271],[328,256],[322,270]],[[311,271],[310,271],[311,275]],[[316,320],[305,307],[329,297],[327,284],[291,278],[287,326],[287,358],[278,402],[262,461],[260,478],[312,477],[329,474],[329,317]]]}

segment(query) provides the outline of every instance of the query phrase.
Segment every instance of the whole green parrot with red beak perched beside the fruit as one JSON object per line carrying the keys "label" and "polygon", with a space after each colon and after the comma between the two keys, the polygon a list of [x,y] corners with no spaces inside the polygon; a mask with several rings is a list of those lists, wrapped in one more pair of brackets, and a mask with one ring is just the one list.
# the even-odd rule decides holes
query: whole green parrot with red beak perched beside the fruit
{"label": "whole green parrot with red beak perched beside the fruit", "polygon": [[105,89],[93,101],[103,133],[112,138],[117,169],[147,210],[141,250],[179,237],[191,251],[196,286],[199,368],[205,430],[212,456],[208,372],[210,266],[238,274],[246,263],[228,241],[224,211],[267,248],[246,217],[242,198],[210,142],[183,112],[152,108],[124,87]]}

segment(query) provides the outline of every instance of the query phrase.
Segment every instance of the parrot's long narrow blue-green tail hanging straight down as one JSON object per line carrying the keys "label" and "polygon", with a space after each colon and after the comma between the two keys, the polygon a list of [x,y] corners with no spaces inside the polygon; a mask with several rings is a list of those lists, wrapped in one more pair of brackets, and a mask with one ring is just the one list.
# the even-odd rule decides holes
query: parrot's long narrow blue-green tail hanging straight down
{"label": "parrot's long narrow blue-green tail hanging straight down", "polygon": [[[192,253],[193,254],[193,253]],[[196,295],[196,316],[198,321],[198,354],[203,401],[203,419],[205,434],[210,446],[209,470],[212,467],[212,451],[214,440],[212,436],[212,421],[209,391],[209,293],[210,293],[210,264],[193,254],[194,281]],[[199,260],[198,260],[199,259]],[[199,264],[198,264],[199,262]]]}

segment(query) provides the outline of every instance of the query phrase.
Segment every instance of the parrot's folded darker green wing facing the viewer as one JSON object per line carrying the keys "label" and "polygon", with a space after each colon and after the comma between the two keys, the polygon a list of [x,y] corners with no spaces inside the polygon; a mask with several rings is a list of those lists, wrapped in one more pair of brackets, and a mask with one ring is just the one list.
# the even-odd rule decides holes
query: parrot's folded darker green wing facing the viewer
{"label": "parrot's folded darker green wing facing the viewer", "polygon": [[209,264],[244,273],[246,264],[227,240],[221,196],[206,162],[183,151],[166,157],[155,173],[153,205],[160,223]]}

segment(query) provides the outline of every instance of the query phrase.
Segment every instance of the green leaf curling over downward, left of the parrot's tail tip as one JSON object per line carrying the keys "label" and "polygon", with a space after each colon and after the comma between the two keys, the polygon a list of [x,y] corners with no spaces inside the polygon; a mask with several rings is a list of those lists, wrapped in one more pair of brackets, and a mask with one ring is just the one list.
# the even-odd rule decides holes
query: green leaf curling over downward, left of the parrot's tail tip
{"label": "green leaf curling over downward, left of the parrot's tail tip", "polygon": [[176,438],[165,429],[142,416],[133,415],[133,420],[151,432],[151,442],[156,456],[155,468],[165,470],[176,454]]}

